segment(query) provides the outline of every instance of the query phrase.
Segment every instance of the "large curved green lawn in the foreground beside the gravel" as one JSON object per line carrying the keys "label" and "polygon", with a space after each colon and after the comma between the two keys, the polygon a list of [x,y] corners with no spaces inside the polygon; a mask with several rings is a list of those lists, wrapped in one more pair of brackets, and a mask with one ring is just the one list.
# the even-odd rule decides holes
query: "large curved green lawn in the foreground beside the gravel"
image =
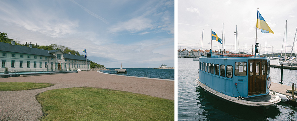
{"label": "large curved green lawn in the foreground beside the gravel", "polygon": [[174,120],[174,100],[99,88],[63,88],[38,94],[41,120]]}

